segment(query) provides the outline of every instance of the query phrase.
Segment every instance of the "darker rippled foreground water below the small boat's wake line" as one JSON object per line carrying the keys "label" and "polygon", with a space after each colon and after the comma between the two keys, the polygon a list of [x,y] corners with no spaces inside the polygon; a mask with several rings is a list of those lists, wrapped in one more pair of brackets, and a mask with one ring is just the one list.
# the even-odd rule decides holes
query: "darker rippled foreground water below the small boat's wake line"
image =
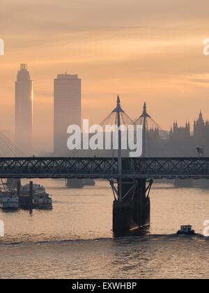
{"label": "darker rippled foreground water below the small boat's wake line", "polygon": [[[132,236],[1,246],[1,278],[208,278],[209,241]],[[47,269],[46,269],[47,268]]]}

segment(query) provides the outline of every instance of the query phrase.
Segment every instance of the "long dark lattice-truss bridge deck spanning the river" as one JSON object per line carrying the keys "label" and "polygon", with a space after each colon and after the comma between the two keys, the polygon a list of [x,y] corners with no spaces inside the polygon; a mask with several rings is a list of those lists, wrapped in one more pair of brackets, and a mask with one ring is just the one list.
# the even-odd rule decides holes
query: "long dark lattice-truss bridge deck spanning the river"
{"label": "long dark lattice-truss bridge deck spanning the river", "polygon": [[[118,179],[117,158],[0,158],[0,178]],[[209,158],[123,158],[123,178],[209,179]]]}

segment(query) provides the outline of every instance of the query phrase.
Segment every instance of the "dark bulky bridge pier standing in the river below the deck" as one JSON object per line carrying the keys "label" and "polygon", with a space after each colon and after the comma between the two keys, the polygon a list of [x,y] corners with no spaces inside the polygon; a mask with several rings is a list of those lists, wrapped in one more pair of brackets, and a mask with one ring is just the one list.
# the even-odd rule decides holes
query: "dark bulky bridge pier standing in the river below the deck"
{"label": "dark bulky bridge pier standing in the river below the deck", "polygon": [[[146,182],[146,179],[123,180],[123,200],[119,201],[115,196],[113,204],[114,232],[127,232],[150,225],[149,193],[153,181],[148,181],[148,185]],[[116,188],[114,188],[114,195],[116,195]]]}

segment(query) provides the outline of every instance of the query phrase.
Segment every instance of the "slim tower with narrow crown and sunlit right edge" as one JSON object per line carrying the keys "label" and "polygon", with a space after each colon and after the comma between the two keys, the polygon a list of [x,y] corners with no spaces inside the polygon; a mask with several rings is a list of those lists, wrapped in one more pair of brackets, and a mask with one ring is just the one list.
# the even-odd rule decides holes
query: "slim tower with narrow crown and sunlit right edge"
{"label": "slim tower with narrow crown and sunlit right edge", "polygon": [[20,65],[15,82],[15,144],[26,155],[32,154],[33,81],[26,64]]}

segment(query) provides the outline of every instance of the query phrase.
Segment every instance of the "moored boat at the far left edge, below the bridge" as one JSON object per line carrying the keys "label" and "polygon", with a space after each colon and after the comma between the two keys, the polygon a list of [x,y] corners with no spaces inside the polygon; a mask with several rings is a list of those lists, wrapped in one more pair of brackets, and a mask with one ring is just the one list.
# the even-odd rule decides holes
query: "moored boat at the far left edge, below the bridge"
{"label": "moored boat at the far left edge, below the bridge", "polygon": [[1,209],[19,209],[19,198],[15,191],[0,191]]}

